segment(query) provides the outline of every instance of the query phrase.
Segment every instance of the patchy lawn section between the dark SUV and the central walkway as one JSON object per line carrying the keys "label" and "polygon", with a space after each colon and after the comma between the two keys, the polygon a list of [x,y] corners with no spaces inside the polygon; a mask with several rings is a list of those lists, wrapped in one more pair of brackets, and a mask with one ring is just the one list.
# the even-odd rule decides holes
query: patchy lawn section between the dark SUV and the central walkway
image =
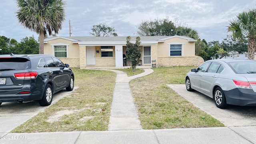
{"label": "patchy lawn section between the dark SUV and the central walkway", "polygon": [[[73,70],[75,86],[79,88],[12,132],[108,130],[116,73],[76,68]],[[102,109],[105,111],[102,112]],[[73,111],[73,113],[61,116],[54,122],[48,122],[51,116],[63,110]]]}

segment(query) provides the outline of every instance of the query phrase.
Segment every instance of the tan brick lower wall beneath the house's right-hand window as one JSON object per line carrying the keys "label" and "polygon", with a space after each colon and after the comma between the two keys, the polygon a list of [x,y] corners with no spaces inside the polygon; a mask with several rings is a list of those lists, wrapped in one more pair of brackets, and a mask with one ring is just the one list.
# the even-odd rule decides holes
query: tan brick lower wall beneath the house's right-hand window
{"label": "tan brick lower wall beneath the house's right-hand window", "polygon": [[165,66],[199,66],[204,62],[200,56],[194,57],[158,57],[156,63],[158,67]]}

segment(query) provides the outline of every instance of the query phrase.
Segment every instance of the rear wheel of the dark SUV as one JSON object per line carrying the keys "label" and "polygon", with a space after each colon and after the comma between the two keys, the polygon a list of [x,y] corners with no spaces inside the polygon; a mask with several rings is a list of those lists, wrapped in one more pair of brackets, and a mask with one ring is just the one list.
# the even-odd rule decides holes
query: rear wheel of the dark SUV
{"label": "rear wheel of the dark SUV", "polygon": [[39,100],[39,104],[41,106],[49,106],[52,103],[52,86],[50,84],[46,85],[46,88],[44,90],[44,95],[42,100]]}

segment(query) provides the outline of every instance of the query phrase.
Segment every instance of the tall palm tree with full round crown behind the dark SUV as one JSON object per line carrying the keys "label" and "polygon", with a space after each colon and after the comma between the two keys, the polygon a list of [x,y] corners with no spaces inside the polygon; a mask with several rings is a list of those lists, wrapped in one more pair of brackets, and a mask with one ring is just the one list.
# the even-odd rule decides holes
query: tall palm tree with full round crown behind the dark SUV
{"label": "tall palm tree with full round crown behind the dark SUV", "polygon": [[62,0],[16,0],[16,17],[24,27],[39,34],[39,53],[44,53],[44,36],[58,34],[65,20]]}

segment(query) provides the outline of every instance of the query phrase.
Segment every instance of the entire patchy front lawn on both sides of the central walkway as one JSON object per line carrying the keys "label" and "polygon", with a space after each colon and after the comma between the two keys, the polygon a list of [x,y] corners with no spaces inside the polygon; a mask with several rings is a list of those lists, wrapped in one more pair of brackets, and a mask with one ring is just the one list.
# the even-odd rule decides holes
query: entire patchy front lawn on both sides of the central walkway
{"label": "entire patchy front lawn on both sides of the central walkway", "polygon": [[[193,104],[179,96],[166,84],[184,84],[186,72],[194,66],[153,68],[148,76],[136,78],[130,87],[143,129],[199,128],[224,126]],[[116,73],[105,70],[74,68],[75,86],[70,96],[52,104],[12,132],[59,132],[108,130],[110,108]],[[142,69],[120,69],[133,76]],[[55,121],[52,116],[64,114]]]}

